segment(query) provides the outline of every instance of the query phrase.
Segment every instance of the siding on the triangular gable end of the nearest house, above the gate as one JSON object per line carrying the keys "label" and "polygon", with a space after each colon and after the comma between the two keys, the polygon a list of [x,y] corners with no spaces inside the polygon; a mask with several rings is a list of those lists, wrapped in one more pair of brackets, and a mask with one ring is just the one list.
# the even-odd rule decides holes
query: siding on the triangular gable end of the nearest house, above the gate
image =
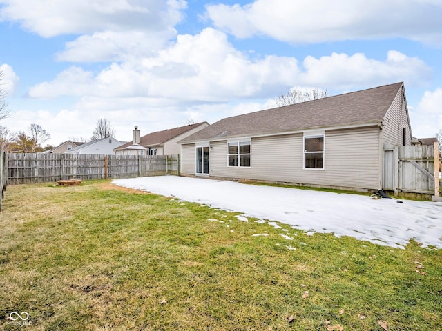
{"label": "siding on the triangular gable end of the nearest house, above the gate", "polygon": [[383,143],[390,145],[402,145],[403,128],[406,129],[406,145],[411,145],[412,133],[410,121],[405,105],[403,88],[399,89],[390,109],[385,114],[383,122]]}

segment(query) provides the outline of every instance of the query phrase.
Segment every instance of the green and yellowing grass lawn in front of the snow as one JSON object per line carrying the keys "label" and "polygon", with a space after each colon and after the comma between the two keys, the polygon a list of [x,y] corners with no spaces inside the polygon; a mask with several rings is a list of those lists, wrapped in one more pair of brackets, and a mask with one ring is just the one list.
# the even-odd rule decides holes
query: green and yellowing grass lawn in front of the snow
{"label": "green and yellowing grass lawn in front of the snow", "polygon": [[8,187],[0,330],[442,330],[442,250],[307,237],[110,183]]}

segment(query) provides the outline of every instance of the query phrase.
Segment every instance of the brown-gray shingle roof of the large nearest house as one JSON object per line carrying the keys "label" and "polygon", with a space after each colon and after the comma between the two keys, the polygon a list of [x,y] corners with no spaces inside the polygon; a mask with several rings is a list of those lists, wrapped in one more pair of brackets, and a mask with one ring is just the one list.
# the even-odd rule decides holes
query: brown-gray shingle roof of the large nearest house
{"label": "brown-gray shingle roof of the large nearest house", "polygon": [[227,117],[180,143],[379,123],[403,83]]}

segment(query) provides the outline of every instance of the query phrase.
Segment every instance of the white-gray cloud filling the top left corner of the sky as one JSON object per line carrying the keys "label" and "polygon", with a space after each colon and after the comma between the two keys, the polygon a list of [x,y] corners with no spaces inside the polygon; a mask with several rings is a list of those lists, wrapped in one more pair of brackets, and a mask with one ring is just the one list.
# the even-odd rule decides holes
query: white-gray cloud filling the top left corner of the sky
{"label": "white-gray cloud filling the top left corner of the sky", "polygon": [[79,34],[58,61],[121,61],[160,50],[177,34],[182,0],[0,0],[0,21],[17,21],[42,37]]}

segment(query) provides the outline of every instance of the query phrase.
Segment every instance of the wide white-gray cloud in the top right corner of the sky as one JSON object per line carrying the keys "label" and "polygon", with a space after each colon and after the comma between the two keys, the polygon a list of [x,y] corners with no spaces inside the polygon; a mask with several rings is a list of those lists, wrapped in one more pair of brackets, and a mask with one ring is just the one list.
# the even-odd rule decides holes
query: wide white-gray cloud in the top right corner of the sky
{"label": "wide white-gray cloud in the top right corner of the sky", "polygon": [[403,37],[442,45],[439,0],[256,0],[206,6],[213,24],[239,38],[264,34],[290,43]]}

